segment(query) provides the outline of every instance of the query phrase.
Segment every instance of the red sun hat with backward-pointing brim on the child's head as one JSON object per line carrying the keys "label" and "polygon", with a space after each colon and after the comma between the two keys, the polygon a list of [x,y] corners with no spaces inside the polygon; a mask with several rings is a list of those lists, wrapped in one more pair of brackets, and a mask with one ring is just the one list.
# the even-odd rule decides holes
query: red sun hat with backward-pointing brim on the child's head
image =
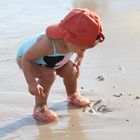
{"label": "red sun hat with backward-pointing brim on the child's head", "polygon": [[73,9],[58,24],[47,27],[49,38],[69,41],[77,45],[94,45],[98,36],[99,42],[105,37],[102,34],[100,17],[88,9]]}

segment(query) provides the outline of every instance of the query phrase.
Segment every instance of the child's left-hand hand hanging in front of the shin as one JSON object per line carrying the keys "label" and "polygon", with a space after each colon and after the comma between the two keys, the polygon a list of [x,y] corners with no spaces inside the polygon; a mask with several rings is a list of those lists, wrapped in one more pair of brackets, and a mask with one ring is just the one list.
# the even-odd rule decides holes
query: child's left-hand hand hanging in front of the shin
{"label": "child's left-hand hand hanging in front of the shin", "polygon": [[45,93],[43,92],[43,87],[38,83],[31,83],[28,85],[29,92],[35,96],[43,96],[45,97]]}

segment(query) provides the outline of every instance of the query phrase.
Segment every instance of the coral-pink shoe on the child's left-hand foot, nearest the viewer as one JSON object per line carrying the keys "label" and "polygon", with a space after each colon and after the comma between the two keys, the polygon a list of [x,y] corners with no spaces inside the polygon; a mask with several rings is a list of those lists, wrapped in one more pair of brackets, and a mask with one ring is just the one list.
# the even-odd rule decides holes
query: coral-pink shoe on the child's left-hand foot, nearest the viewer
{"label": "coral-pink shoe on the child's left-hand foot, nearest the viewer", "polygon": [[46,123],[56,122],[58,120],[57,114],[54,111],[49,110],[46,105],[35,108],[33,112],[33,117],[36,120]]}

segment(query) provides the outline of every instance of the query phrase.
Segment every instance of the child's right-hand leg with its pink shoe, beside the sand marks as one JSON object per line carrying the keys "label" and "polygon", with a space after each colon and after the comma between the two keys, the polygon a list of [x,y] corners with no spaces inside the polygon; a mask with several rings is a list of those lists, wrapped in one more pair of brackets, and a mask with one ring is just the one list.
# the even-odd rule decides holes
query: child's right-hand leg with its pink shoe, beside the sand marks
{"label": "child's right-hand leg with its pink shoe, beside the sand marks", "polygon": [[78,78],[76,77],[77,70],[71,61],[65,64],[64,67],[57,70],[57,74],[63,78],[66,87],[68,101],[78,106],[87,106],[90,101],[79,95],[77,89]]}

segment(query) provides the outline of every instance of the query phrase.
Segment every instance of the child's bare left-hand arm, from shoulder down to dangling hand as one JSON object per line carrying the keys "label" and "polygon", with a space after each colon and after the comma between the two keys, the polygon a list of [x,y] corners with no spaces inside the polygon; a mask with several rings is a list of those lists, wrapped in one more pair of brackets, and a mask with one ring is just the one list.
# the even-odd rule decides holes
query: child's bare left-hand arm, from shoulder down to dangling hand
{"label": "child's bare left-hand arm, from shoulder down to dangling hand", "polygon": [[25,79],[28,84],[28,88],[31,94],[33,95],[42,95],[43,94],[43,88],[39,83],[35,80],[34,76],[34,68],[35,65],[37,67],[37,64],[35,64],[35,61],[44,56],[48,53],[47,47],[47,38],[42,38],[38,40],[23,56],[22,59],[22,67],[23,72],[25,75]]}

